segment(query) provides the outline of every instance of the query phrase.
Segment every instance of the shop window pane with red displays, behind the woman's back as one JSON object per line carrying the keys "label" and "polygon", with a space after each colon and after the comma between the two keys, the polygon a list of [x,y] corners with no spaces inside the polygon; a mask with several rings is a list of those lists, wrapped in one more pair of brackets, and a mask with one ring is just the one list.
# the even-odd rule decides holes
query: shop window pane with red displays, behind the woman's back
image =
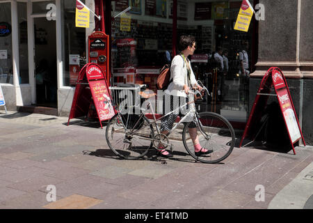
{"label": "shop window pane with red displays, behind the woman's back", "polygon": [[[123,10],[131,7],[126,13]],[[156,91],[166,54],[172,58],[172,18],[168,1],[112,1],[113,85],[145,84]]]}

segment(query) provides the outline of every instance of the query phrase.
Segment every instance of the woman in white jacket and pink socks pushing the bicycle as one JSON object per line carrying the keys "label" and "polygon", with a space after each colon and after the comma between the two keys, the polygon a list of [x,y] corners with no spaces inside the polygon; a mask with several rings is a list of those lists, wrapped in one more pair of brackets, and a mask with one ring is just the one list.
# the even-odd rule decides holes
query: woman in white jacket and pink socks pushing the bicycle
{"label": "woman in white jacket and pink socks pushing the bicycle", "polygon": [[[165,114],[184,105],[188,100],[192,100],[191,97],[193,97],[193,95],[189,93],[191,88],[198,90],[202,89],[195,80],[195,75],[191,68],[191,61],[188,60],[188,56],[193,55],[193,52],[195,52],[195,47],[194,36],[181,36],[179,38],[180,53],[172,59],[172,64],[170,66],[170,79],[172,79],[172,82],[170,82],[168,88],[164,91],[163,105],[170,105],[166,106],[166,108],[163,106],[163,108],[165,108]],[[190,99],[188,96],[190,96]],[[186,107],[186,109],[188,111],[188,107]],[[186,109],[179,109],[179,111],[175,110],[172,114],[161,118],[161,134],[168,134],[172,129],[172,125],[176,121],[177,116],[184,116],[183,114],[186,114]],[[186,117],[186,120],[189,122],[191,121],[190,118],[193,117]],[[184,123],[184,125],[186,125],[186,123]],[[204,155],[213,152],[206,148],[202,148],[200,145],[196,125],[195,121],[193,121],[191,128],[189,128],[189,134],[195,148],[195,155]],[[157,151],[158,155],[172,157],[172,154],[169,151],[166,151],[161,143],[158,145]]]}

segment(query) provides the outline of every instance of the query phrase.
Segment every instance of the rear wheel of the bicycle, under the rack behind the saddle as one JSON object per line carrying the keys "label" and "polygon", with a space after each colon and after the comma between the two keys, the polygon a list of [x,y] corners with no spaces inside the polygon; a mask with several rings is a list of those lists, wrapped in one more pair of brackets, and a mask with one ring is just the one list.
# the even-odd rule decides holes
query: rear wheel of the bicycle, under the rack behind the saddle
{"label": "rear wheel of the bicycle, under the rack behind the saddle", "polygon": [[[134,126],[138,118],[139,116],[132,116],[131,119],[128,119],[127,115],[115,114],[106,126],[106,142],[109,148],[124,159],[136,160],[147,154],[147,151],[152,147],[153,126],[145,116]],[[143,128],[147,124],[150,126]],[[134,127],[135,130],[141,128],[142,130],[136,134],[131,133],[131,128]]]}

